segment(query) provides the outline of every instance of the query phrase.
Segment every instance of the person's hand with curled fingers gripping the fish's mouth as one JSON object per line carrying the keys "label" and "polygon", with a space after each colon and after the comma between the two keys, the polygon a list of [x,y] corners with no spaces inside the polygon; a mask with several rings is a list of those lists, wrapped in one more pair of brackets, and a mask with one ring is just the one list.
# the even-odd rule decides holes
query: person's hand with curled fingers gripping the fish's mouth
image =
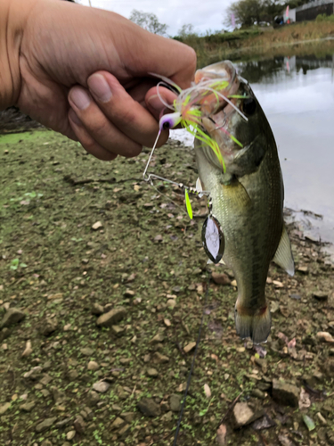
{"label": "person's hand with curled fingers gripping the fish's mouth", "polygon": [[[6,0],[5,0],[6,1]],[[102,160],[135,156],[159,131],[154,72],[189,87],[196,56],[113,12],[59,0],[11,0],[29,14],[20,41],[15,104],[48,128],[77,139]],[[175,95],[161,89],[167,103]],[[150,112],[151,111],[151,112]],[[167,131],[159,145],[167,141]]]}

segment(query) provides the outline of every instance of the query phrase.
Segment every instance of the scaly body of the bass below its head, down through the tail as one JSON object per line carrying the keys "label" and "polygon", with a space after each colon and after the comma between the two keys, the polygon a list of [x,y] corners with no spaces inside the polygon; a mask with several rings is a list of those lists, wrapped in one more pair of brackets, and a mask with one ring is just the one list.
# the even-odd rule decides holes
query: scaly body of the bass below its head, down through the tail
{"label": "scaly body of the bass below its head, down through the tail", "polygon": [[[274,148],[275,149],[275,148]],[[212,213],[225,238],[224,262],[235,275],[237,333],[254,343],[270,333],[270,310],[265,282],[270,261],[280,242],[283,225],[283,187],[277,151],[268,150],[256,172],[222,184],[216,169],[200,148],[196,149],[200,180],[212,199]]]}

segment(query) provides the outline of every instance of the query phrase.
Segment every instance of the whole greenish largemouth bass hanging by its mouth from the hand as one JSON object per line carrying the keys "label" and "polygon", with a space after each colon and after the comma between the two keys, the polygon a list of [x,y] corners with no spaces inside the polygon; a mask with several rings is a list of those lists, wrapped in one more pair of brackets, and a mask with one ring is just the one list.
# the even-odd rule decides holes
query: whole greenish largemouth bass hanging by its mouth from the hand
{"label": "whole greenish largemouth bass hanging by its mouth from the hand", "polygon": [[[224,95],[202,118],[202,126],[216,140],[225,172],[213,150],[195,139],[195,153],[203,190],[208,191],[212,214],[224,233],[224,263],[238,285],[235,324],[241,338],[266,341],[271,316],[265,283],[271,260],[294,274],[289,236],[283,222],[283,181],[272,129],[248,82],[232,62],[218,62],[198,70],[195,82],[226,78]],[[216,108],[216,109],[215,109]],[[231,137],[233,136],[233,138]],[[239,143],[239,144],[237,144]]]}

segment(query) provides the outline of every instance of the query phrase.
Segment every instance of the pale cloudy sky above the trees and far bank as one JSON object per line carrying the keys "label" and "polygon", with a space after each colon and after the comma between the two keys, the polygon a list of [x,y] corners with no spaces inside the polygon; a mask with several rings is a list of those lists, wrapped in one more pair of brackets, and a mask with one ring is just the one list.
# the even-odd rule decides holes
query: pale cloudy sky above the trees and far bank
{"label": "pale cloudy sky above the trees and far bank", "polygon": [[[88,0],[76,0],[88,5]],[[153,12],[160,23],[165,23],[167,34],[176,36],[184,24],[191,23],[194,31],[205,33],[224,28],[224,13],[232,0],[91,0],[95,8],[107,9],[127,19],[133,9]]]}

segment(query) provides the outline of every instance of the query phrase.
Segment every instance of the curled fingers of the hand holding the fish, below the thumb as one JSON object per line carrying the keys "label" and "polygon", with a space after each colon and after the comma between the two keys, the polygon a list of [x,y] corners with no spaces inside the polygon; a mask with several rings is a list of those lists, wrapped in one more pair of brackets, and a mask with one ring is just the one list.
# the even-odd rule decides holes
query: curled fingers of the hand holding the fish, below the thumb
{"label": "curled fingers of the hand holding the fish, below the thumb", "polygon": [[[154,144],[159,123],[126,93],[116,78],[110,73],[98,72],[88,78],[88,87],[89,92],[78,86],[69,91],[71,128],[87,152],[110,160],[118,154],[136,156],[143,145]],[[164,131],[158,146],[165,144],[167,138],[168,132]]]}

